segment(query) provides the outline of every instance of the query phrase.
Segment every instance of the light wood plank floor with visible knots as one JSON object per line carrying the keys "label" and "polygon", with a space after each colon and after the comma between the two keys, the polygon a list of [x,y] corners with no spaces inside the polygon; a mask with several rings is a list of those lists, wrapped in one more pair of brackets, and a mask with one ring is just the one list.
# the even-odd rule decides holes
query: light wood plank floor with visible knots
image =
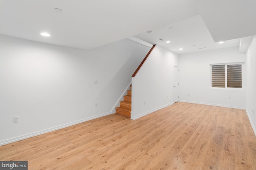
{"label": "light wood plank floor with visible knots", "polygon": [[244,110],[178,102],[4,145],[0,160],[28,160],[29,170],[256,170],[256,137]]}

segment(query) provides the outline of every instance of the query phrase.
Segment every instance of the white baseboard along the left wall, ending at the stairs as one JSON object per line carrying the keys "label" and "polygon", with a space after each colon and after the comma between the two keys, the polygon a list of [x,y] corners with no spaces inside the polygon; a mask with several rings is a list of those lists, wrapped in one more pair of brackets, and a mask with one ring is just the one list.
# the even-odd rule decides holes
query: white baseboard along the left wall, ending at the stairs
{"label": "white baseboard along the left wall, ending at the stairs", "polygon": [[62,128],[65,128],[65,127],[69,127],[69,126],[72,126],[72,125],[76,125],[78,123],[82,123],[82,122],[85,122],[85,121],[89,121],[89,120],[96,119],[96,118],[103,117],[103,116],[110,115],[110,114],[112,114],[112,111],[109,111],[107,113],[102,113],[100,115],[88,117],[86,119],[81,119],[81,120],[78,120],[78,121],[66,123],[64,125],[59,125],[59,126],[52,127],[52,128],[49,128],[49,129],[44,129],[42,131],[37,131],[37,132],[29,133],[27,135],[22,135],[22,136],[19,136],[19,137],[14,137],[14,138],[11,138],[11,139],[0,141],[0,146],[6,145],[6,144],[12,143],[12,142],[20,141],[22,139],[27,139],[27,138],[30,138],[30,137],[34,137],[34,136],[37,136],[37,135],[42,135],[44,133],[48,133],[48,132],[55,131],[55,130],[58,130],[58,129],[62,129]]}

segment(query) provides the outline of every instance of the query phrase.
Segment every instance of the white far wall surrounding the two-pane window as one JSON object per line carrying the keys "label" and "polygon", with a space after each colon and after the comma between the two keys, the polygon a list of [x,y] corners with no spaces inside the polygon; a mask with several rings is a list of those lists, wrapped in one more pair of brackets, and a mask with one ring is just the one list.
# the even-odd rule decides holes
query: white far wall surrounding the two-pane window
{"label": "white far wall surrounding the two-pane window", "polygon": [[239,53],[238,47],[179,55],[180,101],[244,109],[245,90],[210,88],[210,64],[245,60],[245,54]]}

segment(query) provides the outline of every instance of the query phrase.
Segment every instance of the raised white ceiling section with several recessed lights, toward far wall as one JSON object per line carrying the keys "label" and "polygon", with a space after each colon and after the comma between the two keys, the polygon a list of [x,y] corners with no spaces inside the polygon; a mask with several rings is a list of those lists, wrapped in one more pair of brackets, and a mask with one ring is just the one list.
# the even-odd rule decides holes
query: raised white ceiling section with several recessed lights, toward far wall
{"label": "raised white ceiling section with several recessed lights, toward far wall", "polygon": [[[215,43],[201,16],[194,16],[182,21],[152,29],[151,33],[141,33],[134,37],[151,44],[160,45],[175,53],[192,53],[220,48],[239,46],[240,39]],[[159,39],[163,39],[161,41]],[[171,41],[166,43],[166,41]],[[179,50],[182,48],[183,50]]]}

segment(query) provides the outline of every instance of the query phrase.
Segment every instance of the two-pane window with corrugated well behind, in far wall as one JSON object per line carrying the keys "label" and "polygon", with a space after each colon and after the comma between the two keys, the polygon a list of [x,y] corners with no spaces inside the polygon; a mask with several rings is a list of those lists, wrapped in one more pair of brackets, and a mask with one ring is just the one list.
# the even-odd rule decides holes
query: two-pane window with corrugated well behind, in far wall
{"label": "two-pane window with corrugated well behind, in far wall", "polygon": [[244,63],[211,64],[211,87],[234,88],[244,87]]}

